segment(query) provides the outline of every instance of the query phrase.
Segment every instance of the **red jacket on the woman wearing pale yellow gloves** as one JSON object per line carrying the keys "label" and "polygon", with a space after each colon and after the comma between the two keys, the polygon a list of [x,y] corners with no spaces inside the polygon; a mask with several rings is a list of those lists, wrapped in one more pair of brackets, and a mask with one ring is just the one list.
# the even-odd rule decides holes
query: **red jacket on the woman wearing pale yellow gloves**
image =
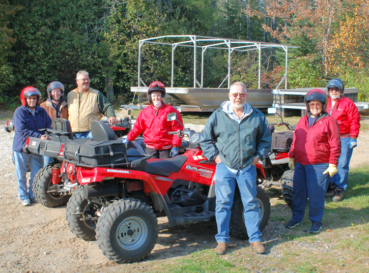
{"label": "red jacket on the woman wearing pale yellow gloves", "polygon": [[338,165],[341,140],[336,120],[323,113],[308,128],[308,115],[301,117],[295,128],[289,158],[302,165],[330,163]]}

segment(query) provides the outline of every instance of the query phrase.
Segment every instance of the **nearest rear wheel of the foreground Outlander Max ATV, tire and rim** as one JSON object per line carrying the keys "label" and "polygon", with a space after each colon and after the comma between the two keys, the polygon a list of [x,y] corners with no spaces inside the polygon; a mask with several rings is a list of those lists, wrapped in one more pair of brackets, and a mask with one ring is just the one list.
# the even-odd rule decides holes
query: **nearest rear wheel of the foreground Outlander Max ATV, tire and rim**
{"label": "nearest rear wheel of the foreground Outlander Max ATV, tire and rim", "polygon": [[157,238],[154,211],[138,199],[121,199],[108,205],[96,225],[97,245],[105,256],[118,263],[144,259]]}

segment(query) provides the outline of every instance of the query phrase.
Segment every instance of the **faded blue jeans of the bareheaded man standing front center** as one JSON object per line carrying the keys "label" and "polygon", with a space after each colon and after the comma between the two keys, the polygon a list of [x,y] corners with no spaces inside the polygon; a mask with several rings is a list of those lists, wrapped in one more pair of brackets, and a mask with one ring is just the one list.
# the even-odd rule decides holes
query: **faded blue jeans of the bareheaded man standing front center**
{"label": "faded blue jeans of the bareheaded man standing front center", "polygon": [[215,196],[216,208],[215,218],[218,234],[215,235],[217,242],[228,242],[230,240],[230,219],[233,197],[235,196],[236,183],[240,189],[241,199],[244,207],[245,225],[249,242],[261,241],[262,233],[259,230],[259,207],[256,200],[256,167],[251,166],[248,170],[236,174],[232,173],[223,163],[216,165],[215,174]]}

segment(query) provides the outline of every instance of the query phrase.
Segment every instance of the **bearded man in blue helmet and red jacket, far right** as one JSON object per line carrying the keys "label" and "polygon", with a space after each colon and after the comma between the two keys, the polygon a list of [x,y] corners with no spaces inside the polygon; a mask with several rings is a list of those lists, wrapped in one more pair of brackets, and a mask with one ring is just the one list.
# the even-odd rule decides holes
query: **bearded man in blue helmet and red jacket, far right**
{"label": "bearded man in blue helmet and red jacket, far right", "polygon": [[327,84],[327,112],[337,120],[341,138],[341,155],[338,160],[338,173],[330,178],[330,189],[327,192],[332,201],[342,201],[349,183],[349,164],[352,150],[356,147],[356,139],[360,129],[360,115],[356,105],[344,97],[345,85],[340,79],[330,80]]}

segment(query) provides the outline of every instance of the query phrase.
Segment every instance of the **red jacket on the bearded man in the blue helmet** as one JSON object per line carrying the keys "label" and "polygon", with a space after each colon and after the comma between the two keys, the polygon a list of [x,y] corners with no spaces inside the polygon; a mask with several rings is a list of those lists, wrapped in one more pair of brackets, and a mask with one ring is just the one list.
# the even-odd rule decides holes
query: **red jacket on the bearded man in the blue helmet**
{"label": "red jacket on the bearded man in the blue helmet", "polygon": [[353,101],[346,97],[339,98],[334,104],[332,113],[330,113],[331,105],[332,99],[329,98],[327,112],[337,120],[340,136],[358,137],[360,129],[360,114]]}

